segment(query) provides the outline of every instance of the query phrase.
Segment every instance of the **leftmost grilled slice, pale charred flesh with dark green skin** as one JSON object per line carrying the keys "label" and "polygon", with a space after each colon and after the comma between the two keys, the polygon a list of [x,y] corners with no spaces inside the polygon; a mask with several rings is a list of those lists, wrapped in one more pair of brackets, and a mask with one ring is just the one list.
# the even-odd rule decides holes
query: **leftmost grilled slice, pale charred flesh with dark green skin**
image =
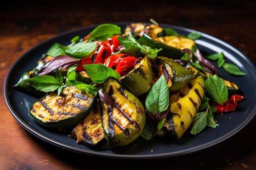
{"label": "leftmost grilled slice, pale charred flesh with dark green skin", "polygon": [[95,97],[74,86],[67,86],[60,95],[52,92],[35,102],[29,114],[43,126],[70,128],[90,112],[94,101]]}

